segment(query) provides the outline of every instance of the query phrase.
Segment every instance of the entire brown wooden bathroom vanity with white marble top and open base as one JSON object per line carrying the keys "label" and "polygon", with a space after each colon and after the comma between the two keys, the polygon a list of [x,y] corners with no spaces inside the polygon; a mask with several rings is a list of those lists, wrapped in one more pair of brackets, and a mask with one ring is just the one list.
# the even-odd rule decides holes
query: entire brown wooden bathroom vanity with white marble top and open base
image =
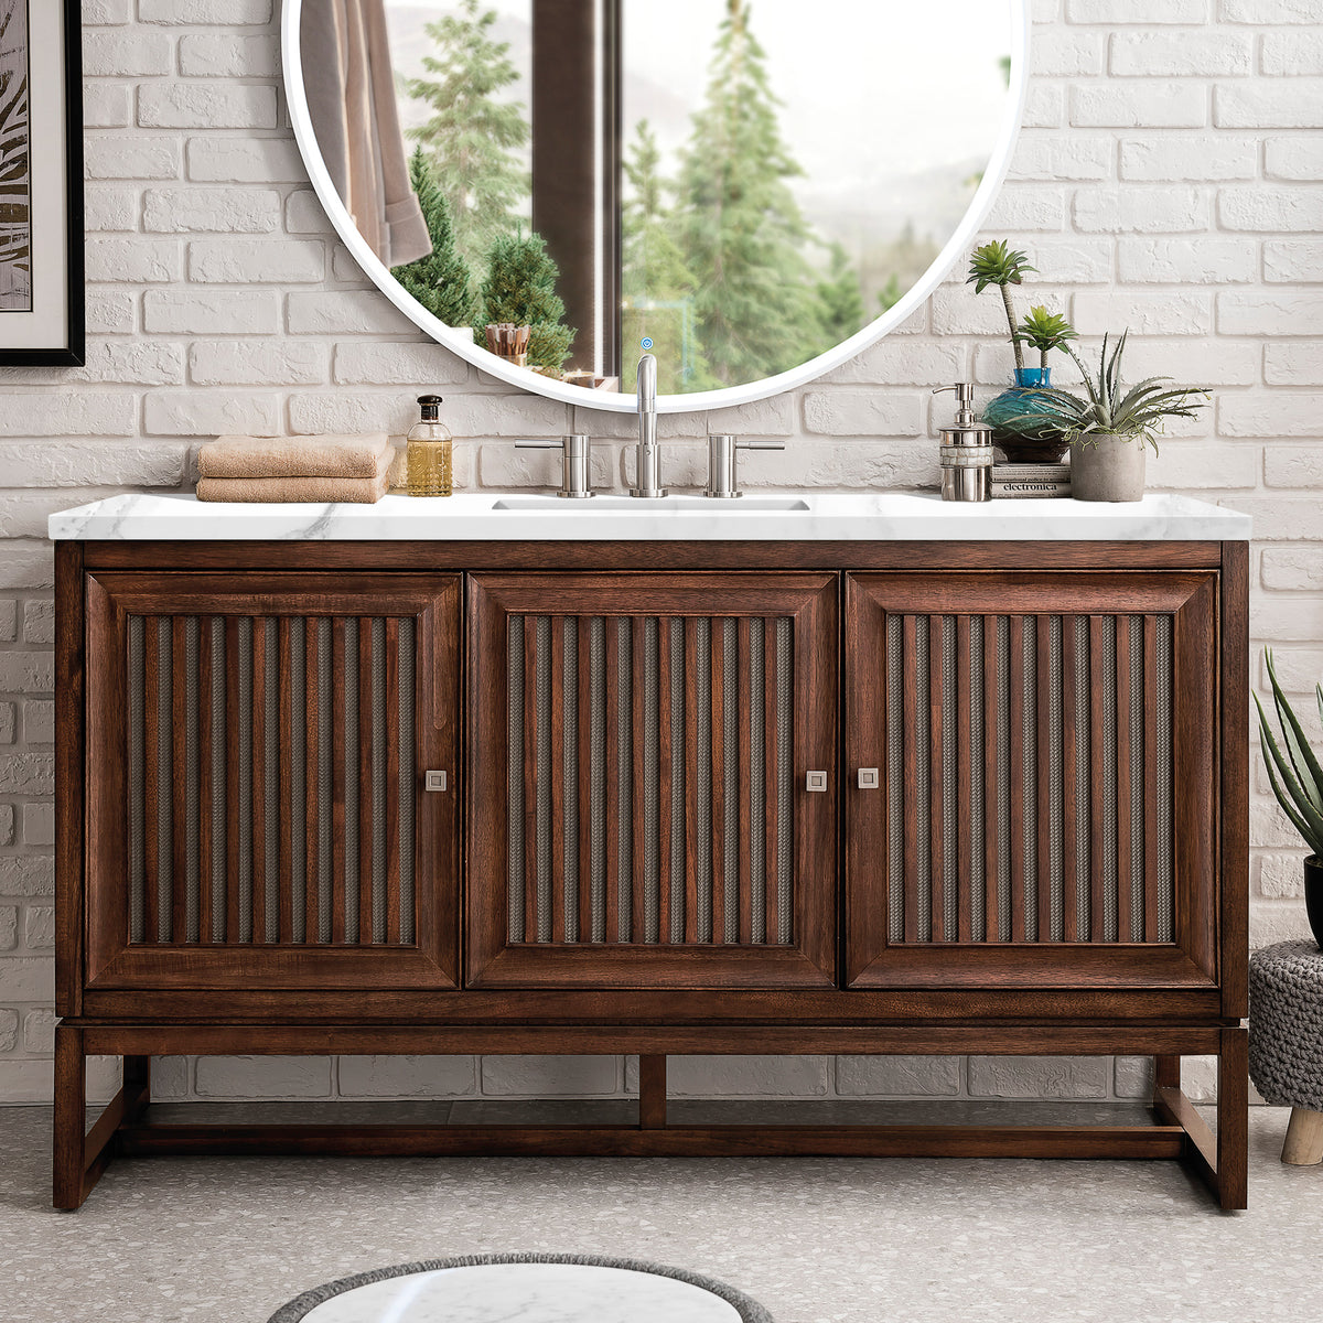
{"label": "entire brown wooden bathroom vanity with white marble top and open base", "polygon": [[[1187,1156],[1245,1207],[1245,516],[120,496],[50,533],[58,1207],[115,1152],[291,1151]],[[636,1053],[638,1114],[153,1122],[153,1054],[254,1053]],[[1144,1125],[693,1125],[668,1053],[1156,1080]]]}

